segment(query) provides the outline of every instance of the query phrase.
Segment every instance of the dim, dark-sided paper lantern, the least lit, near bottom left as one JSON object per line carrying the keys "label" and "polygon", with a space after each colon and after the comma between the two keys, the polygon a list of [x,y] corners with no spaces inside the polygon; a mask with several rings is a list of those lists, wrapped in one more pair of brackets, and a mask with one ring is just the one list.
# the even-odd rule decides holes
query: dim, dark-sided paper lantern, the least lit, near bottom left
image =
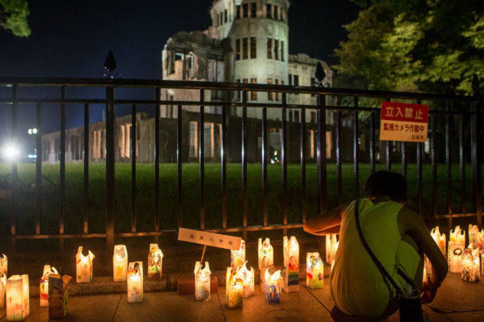
{"label": "dim, dark-sided paper lantern, the least lit, near bottom left", "polygon": [[69,304],[69,275],[52,274],[49,276],[49,319],[66,316]]}

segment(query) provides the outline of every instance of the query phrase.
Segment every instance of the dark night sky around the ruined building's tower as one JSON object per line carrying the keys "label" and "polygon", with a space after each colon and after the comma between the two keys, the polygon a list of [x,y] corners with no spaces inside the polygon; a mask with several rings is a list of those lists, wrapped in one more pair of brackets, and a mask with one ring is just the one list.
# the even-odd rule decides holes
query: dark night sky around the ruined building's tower
{"label": "dark night sky around the ruined building's tower", "polygon": [[[160,79],[166,40],[178,31],[207,29],[210,6],[211,0],[29,1],[29,38],[0,29],[0,76],[96,78],[112,48],[122,78]],[[333,50],[346,39],[341,25],[353,21],[357,13],[358,7],[349,0],[292,1],[289,52],[305,52],[335,63]],[[9,95],[10,90],[0,89],[0,97]],[[102,92],[88,95],[96,97]],[[0,122],[4,123],[0,134],[9,128],[5,124],[9,110],[0,105]],[[82,124],[81,110],[68,109],[68,127]],[[33,112],[33,106],[20,109],[19,134],[34,125]],[[101,118],[102,113],[95,112],[91,121]],[[49,121],[57,115],[58,107],[44,108],[45,132],[58,129],[58,122]]]}

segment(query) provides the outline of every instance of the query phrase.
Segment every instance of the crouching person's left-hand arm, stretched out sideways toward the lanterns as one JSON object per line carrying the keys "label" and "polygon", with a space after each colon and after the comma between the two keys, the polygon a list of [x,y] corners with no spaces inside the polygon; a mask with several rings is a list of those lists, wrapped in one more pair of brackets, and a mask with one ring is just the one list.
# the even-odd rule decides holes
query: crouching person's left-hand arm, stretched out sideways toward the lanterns
{"label": "crouching person's left-hand arm, stretched out sideways toward the lanterns", "polygon": [[341,205],[338,208],[311,218],[304,224],[304,231],[319,236],[339,233],[341,217],[348,205],[348,203]]}

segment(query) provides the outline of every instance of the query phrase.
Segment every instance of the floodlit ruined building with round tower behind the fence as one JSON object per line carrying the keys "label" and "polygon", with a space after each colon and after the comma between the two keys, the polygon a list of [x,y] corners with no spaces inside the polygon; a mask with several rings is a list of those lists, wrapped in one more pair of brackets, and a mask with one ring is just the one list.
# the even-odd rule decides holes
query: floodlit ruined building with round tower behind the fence
{"label": "floodlit ruined building with round tower behind the fence", "polygon": [[[212,25],[205,31],[181,31],[168,39],[162,52],[163,79],[177,81],[233,82],[273,85],[311,86],[316,65],[321,62],[325,83],[332,84],[332,70],[328,64],[307,54],[290,54],[288,0],[215,0],[210,9]],[[162,100],[198,101],[199,91],[163,89]],[[206,101],[241,101],[237,92],[205,91]],[[248,102],[280,102],[279,93],[251,92]],[[316,96],[288,94],[289,104],[316,105]],[[176,160],[177,106],[160,108],[160,160]],[[183,155],[184,160],[198,157],[198,107],[183,107]],[[204,146],[205,156],[212,160],[220,157],[220,107],[205,107]],[[299,159],[300,111],[287,110],[288,153],[290,160]],[[248,109],[248,159],[260,160],[262,109]],[[327,112],[328,124],[333,123],[333,113]],[[227,113],[227,158],[240,159],[241,108],[231,108]],[[280,149],[280,109],[268,109],[268,137],[270,153]],[[306,113],[307,158],[316,157],[316,111]],[[105,157],[104,123],[90,124],[89,157],[102,160]],[[147,113],[137,117],[137,160],[153,162],[154,119]],[[327,132],[327,157],[331,156],[331,131]],[[116,161],[131,158],[131,116],[115,120]],[[66,131],[66,160],[74,162],[83,157],[83,128]],[[42,159],[56,162],[58,159],[59,132],[42,136]],[[277,152],[276,152],[277,153]]]}

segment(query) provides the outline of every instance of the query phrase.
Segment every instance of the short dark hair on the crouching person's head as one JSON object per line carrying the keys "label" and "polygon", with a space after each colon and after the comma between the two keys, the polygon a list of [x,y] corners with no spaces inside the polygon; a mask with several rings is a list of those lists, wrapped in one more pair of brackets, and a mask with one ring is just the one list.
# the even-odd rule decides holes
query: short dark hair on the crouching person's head
{"label": "short dark hair on the crouching person's head", "polygon": [[370,175],[365,184],[367,198],[388,196],[396,202],[407,201],[407,181],[401,174],[378,171]]}

